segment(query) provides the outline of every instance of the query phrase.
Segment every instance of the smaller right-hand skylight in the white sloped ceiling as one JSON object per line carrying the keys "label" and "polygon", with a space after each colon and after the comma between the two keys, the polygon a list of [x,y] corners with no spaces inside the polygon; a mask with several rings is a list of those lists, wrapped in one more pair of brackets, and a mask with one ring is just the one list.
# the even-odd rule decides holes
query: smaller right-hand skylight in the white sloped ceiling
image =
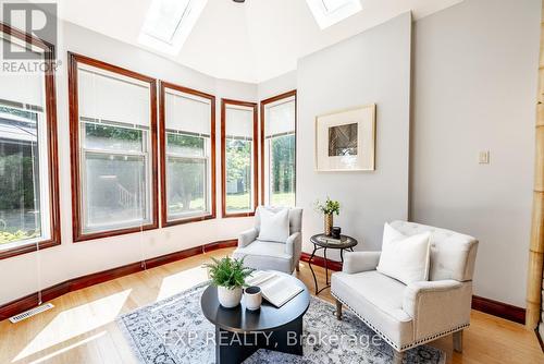
{"label": "smaller right-hand skylight in the white sloped ceiling", "polygon": [[306,0],[321,29],[361,11],[360,0]]}

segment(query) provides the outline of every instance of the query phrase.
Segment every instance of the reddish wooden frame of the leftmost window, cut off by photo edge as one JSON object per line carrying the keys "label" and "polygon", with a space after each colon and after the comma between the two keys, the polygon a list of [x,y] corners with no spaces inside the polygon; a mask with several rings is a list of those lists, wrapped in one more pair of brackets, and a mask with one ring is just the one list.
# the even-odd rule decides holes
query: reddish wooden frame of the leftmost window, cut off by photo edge
{"label": "reddish wooden frame of the leftmost window, cut off by photo edge", "polygon": [[[24,40],[45,51],[45,62],[47,72],[45,73],[45,102],[47,118],[48,145],[48,171],[49,171],[49,213],[51,236],[48,240],[38,243],[21,244],[12,248],[0,251],[0,259],[10,258],[25,253],[36,252],[38,250],[52,247],[61,244],[60,226],[60,202],[59,202],[59,155],[58,155],[58,135],[57,135],[57,90],[54,81],[54,60],[55,48],[53,45],[41,40],[33,35],[23,33],[7,24],[0,23],[0,33],[11,37]],[[9,39],[8,39],[9,40]]]}

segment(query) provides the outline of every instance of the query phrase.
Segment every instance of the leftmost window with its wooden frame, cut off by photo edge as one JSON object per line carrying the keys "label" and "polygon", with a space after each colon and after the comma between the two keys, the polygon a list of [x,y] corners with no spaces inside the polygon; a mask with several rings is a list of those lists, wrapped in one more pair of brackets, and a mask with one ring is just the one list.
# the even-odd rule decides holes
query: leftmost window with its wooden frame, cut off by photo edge
{"label": "leftmost window with its wooden frame, cut off by photo edge", "polygon": [[[0,44],[45,63],[52,46],[0,24]],[[52,70],[52,68],[51,68]],[[51,72],[0,74],[0,258],[60,244],[57,106]]]}

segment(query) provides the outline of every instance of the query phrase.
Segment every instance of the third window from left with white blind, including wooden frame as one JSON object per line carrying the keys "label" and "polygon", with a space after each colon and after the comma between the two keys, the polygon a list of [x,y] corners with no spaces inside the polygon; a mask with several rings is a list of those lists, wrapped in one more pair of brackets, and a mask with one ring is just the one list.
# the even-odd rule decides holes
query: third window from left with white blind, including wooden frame
{"label": "third window from left with white blind, including wooden frame", "polygon": [[215,217],[215,97],[161,83],[162,226]]}

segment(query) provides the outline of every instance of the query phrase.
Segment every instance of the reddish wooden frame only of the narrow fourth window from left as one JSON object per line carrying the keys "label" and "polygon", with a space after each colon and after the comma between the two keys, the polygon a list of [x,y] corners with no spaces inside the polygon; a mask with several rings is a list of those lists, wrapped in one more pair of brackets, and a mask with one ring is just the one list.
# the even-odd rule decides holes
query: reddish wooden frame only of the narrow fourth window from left
{"label": "reddish wooden frame only of the narrow fourth window from left", "polygon": [[[225,147],[225,126],[226,126],[226,106],[243,106],[254,109],[254,210],[248,213],[227,213],[226,211],[226,147]],[[259,123],[257,102],[221,99],[221,213],[223,218],[249,217],[255,216],[259,205]]]}

